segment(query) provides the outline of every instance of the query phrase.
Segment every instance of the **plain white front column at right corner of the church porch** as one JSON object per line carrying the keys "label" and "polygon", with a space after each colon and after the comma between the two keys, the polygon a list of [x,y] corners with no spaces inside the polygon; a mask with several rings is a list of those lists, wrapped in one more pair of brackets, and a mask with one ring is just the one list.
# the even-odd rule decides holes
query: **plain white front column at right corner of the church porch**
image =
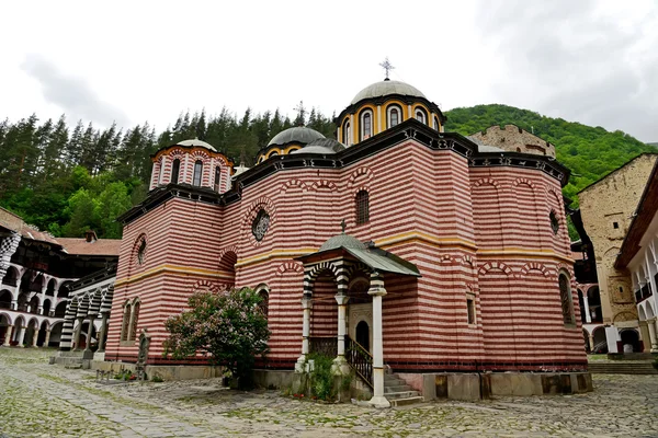
{"label": "plain white front column at right corner of the church porch", "polygon": [[370,404],[376,407],[389,407],[384,396],[384,342],[382,336],[382,298],[386,295],[384,278],[374,272],[371,274],[371,287],[367,293],[373,297],[373,397]]}

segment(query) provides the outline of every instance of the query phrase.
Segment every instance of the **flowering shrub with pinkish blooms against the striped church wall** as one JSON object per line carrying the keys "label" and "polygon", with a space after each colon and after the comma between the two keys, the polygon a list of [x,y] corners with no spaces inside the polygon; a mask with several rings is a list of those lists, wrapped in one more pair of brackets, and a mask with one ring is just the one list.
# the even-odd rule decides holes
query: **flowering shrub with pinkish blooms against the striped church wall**
{"label": "flowering shrub with pinkish blooms against the striped church wall", "polygon": [[170,333],[164,356],[184,359],[197,351],[206,354],[243,385],[251,378],[256,357],[268,353],[270,330],[260,302],[261,297],[249,288],[192,295],[190,309],[164,323]]}

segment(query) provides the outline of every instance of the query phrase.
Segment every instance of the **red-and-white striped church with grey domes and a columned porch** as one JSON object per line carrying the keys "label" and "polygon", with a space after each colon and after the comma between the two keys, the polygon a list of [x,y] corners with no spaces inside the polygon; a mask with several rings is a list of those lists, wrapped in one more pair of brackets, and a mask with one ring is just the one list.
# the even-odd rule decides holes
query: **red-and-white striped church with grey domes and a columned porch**
{"label": "red-and-white striped church with grey domes and a columned porch", "polygon": [[272,332],[262,367],[293,370],[311,351],[349,367],[361,351],[375,397],[386,367],[587,370],[568,170],[445,120],[386,79],[338,115],[336,140],[287,129],[237,176],[204,141],[159,150],[148,197],[120,218],[105,360],[135,362],[148,333],[147,364],[204,364],[162,356],[164,321],[197,290],[248,286]]}

